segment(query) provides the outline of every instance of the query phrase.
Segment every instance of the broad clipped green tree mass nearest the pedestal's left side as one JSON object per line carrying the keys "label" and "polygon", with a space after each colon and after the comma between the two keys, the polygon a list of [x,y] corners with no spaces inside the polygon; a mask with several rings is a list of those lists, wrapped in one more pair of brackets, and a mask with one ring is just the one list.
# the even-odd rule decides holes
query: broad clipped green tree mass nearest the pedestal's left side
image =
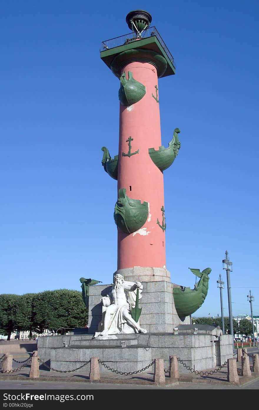
{"label": "broad clipped green tree mass nearest the pedestal's left side", "polygon": [[86,320],[86,306],[77,290],[47,290],[33,299],[33,323],[40,333],[44,329],[83,327]]}

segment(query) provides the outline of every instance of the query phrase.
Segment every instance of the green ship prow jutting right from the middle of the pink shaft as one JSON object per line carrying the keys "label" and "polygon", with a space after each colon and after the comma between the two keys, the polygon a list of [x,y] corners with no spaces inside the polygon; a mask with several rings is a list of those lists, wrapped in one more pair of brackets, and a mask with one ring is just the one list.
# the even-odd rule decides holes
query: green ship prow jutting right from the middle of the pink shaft
{"label": "green ship prow jutting right from the middle of the pink shaft", "polygon": [[165,169],[169,168],[180,149],[181,143],[178,139],[178,134],[180,133],[179,128],[175,128],[173,131],[173,138],[169,142],[168,148],[160,146],[158,151],[155,151],[155,148],[149,148],[149,156],[152,159],[153,163],[163,172]]}

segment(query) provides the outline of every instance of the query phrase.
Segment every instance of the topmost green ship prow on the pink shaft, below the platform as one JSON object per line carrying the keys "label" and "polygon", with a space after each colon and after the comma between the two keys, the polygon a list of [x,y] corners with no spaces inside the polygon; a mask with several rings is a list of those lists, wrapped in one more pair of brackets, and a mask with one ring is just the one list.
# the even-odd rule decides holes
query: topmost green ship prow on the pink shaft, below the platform
{"label": "topmost green ship prow on the pink shaft, below the platform", "polygon": [[132,105],[140,101],[146,94],[146,87],[134,80],[131,71],[128,71],[128,80],[126,74],[122,73],[120,77],[121,87],[119,89],[119,101],[122,105]]}

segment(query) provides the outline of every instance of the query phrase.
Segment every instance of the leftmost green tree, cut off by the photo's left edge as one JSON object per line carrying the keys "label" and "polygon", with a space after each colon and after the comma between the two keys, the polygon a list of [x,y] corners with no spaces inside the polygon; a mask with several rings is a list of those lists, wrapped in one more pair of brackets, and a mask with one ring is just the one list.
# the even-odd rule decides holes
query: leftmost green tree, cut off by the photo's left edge
{"label": "leftmost green tree, cut off by the photo's left edge", "polygon": [[0,295],[0,328],[7,334],[7,340],[19,326],[19,298],[15,294]]}

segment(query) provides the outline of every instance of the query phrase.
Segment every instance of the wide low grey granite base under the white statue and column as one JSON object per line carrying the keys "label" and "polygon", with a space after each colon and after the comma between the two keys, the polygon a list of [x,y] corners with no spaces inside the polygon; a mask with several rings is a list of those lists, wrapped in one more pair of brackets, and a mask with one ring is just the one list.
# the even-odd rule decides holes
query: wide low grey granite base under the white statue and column
{"label": "wide low grey granite base under the white statue and column", "polygon": [[[163,359],[164,367],[168,369],[170,356],[176,356],[187,366],[195,366],[200,371],[219,366],[233,356],[231,335],[219,336],[214,326],[194,326],[179,325],[178,335],[134,333],[97,339],[92,339],[92,335],[39,337],[38,356],[56,370],[74,370],[96,357],[112,369],[126,372],[144,369],[157,358]],[[63,347],[63,342],[67,348]],[[90,364],[81,371],[89,374]],[[153,371],[152,365],[144,372]],[[109,373],[101,364],[100,372]],[[188,373],[182,364],[179,364],[179,372]]]}

